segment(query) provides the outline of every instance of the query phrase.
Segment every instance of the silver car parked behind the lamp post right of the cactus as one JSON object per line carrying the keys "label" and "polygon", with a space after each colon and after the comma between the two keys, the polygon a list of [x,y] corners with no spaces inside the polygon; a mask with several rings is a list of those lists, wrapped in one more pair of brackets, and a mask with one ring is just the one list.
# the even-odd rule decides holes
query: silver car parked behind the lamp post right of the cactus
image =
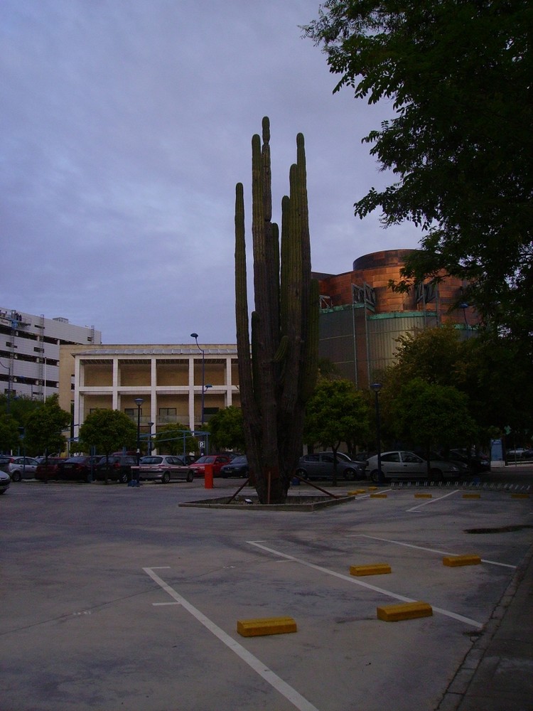
{"label": "silver car parked behind the lamp post right of the cactus", "polygon": [[[384,451],[381,455],[381,469],[384,479],[428,479],[428,463],[426,459],[414,451]],[[368,459],[368,476],[372,481],[379,480],[377,469],[377,454]],[[458,466],[446,459],[431,459],[429,461],[430,481],[458,479],[461,476]]]}

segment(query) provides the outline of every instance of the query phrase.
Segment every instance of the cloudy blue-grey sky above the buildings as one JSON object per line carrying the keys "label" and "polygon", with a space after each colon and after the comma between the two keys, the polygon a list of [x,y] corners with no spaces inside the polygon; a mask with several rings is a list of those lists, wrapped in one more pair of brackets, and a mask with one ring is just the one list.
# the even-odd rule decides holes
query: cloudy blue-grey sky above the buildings
{"label": "cloudy blue-grey sky above the buildings", "polygon": [[278,222],[305,137],[313,270],[417,247],[413,225],[353,214],[394,180],[362,143],[393,109],[333,92],[301,30],[319,5],[1,0],[2,308],[94,326],[102,343],[235,343],[235,185],[251,269],[264,116]]}

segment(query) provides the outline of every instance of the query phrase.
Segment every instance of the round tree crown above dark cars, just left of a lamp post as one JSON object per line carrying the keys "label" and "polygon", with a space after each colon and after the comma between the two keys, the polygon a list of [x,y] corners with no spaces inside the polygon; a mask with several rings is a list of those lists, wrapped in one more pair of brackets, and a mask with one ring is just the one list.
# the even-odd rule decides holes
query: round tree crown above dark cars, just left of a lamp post
{"label": "round tree crown above dark cars, just left of a lamp post", "polygon": [[95,410],[87,415],[80,427],[80,449],[108,456],[122,447],[136,447],[136,424],[119,410]]}

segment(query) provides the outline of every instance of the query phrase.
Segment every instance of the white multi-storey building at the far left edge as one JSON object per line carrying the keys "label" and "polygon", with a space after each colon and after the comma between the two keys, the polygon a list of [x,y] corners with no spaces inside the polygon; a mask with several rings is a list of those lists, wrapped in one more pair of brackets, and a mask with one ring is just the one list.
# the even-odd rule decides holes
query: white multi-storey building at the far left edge
{"label": "white multi-storey building at the far left edge", "polygon": [[12,397],[46,400],[58,394],[60,347],[87,348],[101,342],[102,333],[94,326],[0,308],[0,382],[8,402]]}

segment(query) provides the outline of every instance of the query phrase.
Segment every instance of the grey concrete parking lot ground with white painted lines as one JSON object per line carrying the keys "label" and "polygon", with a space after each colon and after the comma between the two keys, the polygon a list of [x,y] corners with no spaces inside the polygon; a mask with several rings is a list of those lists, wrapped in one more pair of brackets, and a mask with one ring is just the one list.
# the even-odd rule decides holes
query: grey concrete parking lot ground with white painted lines
{"label": "grey concrete parking lot ground with white painted lines", "polygon": [[[1,710],[434,711],[531,545],[532,499],[351,483],[306,513],[179,506],[240,483],[11,486]],[[443,565],[465,554],[480,565]],[[377,619],[407,601],[433,615]],[[237,634],[279,616],[296,634]]]}

